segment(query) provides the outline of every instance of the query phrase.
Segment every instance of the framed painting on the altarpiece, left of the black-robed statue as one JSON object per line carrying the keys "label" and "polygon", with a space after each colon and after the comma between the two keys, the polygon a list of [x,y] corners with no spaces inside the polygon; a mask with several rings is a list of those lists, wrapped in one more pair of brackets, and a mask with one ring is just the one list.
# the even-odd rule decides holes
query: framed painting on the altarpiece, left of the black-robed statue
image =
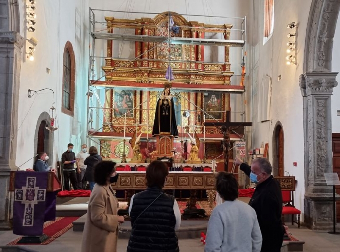
{"label": "framed painting on the altarpiece, left of the black-robed statue", "polygon": [[113,91],[114,117],[120,117],[126,113],[127,118],[134,118],[135,91],[117,88]]}

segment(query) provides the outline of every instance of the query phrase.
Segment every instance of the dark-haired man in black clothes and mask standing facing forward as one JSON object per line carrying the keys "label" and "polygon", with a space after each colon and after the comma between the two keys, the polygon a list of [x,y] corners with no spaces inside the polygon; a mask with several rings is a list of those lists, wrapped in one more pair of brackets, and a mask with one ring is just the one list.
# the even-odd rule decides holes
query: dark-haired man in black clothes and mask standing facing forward
{"label": "dark-haired man in black clothes and mask standing facing forward", "polygon": [[62,154],[63,163],[63,175],[64,175],[64,186],[65,189],[70,191],[71,186],[69,181],[71,181],[73,189],[78,190],[78,180],[75,172],[74,164],[76,163],[75,154],[73,152],[73,144],[68,144],[68,150]]}

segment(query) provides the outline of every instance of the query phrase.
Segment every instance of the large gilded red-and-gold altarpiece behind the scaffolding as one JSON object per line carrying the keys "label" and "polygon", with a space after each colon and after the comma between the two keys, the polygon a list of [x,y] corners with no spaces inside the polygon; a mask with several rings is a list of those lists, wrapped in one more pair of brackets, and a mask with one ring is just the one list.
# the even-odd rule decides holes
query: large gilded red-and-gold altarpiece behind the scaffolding
{"label": "large gilded red-and-gold altarpiece behind the scaffolding", "polygon": [[[174,24],[179,27],[178,34],[169,34],[169,14]],[[204,127],[204,121],[224,122],[226,118],[222,111],[230,110],[230,93],[244,91],[243,83],[231,85],[234,73],[230,70],[229,50],[231,47],[244,45],[244,41],[229,40],[232,25],[187,21],[173,12],[164,12],[154,18],[105,17],[105,20],[107,33],[93,35],[94,38],[107,39],[107,58],[102,66],[105,80],[90,81],[92,86],[106,88],[102,132],[91,133],[91,136],[101,139],[102,157],[119,163],[125,155],[129,162],[133,155],[132,148],[128,142],[123,142],[123,139],[133,137],[136,131],[141,133],[140,148],[143,160],[150,160],[152,153],[155,155],[151,155],[151,158],[170,157],[174,148],[181,150],[183,139],[188,139],[186,130],[190,134],[196,131],[198,137],[204,139],[204,145],[206,141],[205,155],[203,144],[200,148],[201,160],[204,157],[207,160],[219,157],[222,153],[218,140],[222,136],[221,132],[213,126]],[[117,27],[131,29],[135,35],[115,34]],[[205,39],[208,33],[221,33],[224,41]],[[117,40],[128,40],[134,44],[135,59],[113,57]],[[204,61],[205,47],[211,45],[224,48],[224,63]],[[163,142],[157,139],[156,142],[156,139],[151,137],[151,132],[156,103],[166,81],[165,74],[169,63],[174,76],[171,81],[171,93],[177,97],[174,103],[179,138],[164,138]],[[214,108],[209,106],[212,102],[216,104]],[[191,111],[190,116],[184,117],[184,111]],[[203,111],[207,116],[204,116]],[[209,118],[208,115],[217,120]]]}

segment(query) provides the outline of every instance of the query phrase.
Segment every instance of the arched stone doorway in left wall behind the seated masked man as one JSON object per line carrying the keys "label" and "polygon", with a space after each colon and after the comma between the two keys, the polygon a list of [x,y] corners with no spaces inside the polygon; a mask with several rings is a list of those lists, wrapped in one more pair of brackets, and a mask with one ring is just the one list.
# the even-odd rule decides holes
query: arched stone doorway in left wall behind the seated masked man
{"label": "arched stone doorway in left wall behind the seated masked man", "polygon": [[[46,122],[50,119],[50,115],[47,112],[42,112],[36,122],[35,135],[34,135],[34,153],[33,156],[41,150],[38,147],[43,146],[44,152],[51,158],[49,165],[53,162],[53,140],[54,134],[46,129]],[[43,139],[42,139],[43,138]]]}

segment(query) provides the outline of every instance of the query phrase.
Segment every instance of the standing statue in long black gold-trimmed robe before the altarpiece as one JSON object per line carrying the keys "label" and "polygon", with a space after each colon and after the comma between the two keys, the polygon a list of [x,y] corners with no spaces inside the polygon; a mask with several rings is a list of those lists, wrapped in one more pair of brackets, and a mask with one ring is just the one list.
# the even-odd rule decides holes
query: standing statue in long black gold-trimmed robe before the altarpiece
{"label": "standing statue in long black gold-trimmed robe before the altarpiece", "polygon": [[162,95],[156,104],[155,120],[152,136],[168,135],[178,137],[173,98],[170,93],[170,84],[165,84]]}

